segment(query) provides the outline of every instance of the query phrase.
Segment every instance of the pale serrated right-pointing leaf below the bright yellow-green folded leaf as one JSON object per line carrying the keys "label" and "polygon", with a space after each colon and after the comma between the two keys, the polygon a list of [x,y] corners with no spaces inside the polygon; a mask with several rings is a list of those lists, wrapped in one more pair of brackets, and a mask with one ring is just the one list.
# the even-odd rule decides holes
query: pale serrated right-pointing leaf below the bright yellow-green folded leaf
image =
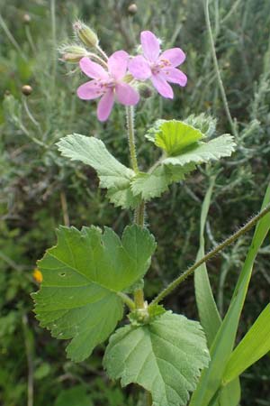
{"label": "pale serrated right-pointing leaf below the bright yellow-green folded leaf", "polygon": [[233,142],[233,137],[229,134],[223,134],[209,141],[209,143],[197,143],[188,151],[177,156],[168,157],[163,163],[165,165],[184,166],[190,162],[199,164],[212,160],[217,161],[222,157],[231,155],[231,152],[234,151],[234,147],[235,143]]}

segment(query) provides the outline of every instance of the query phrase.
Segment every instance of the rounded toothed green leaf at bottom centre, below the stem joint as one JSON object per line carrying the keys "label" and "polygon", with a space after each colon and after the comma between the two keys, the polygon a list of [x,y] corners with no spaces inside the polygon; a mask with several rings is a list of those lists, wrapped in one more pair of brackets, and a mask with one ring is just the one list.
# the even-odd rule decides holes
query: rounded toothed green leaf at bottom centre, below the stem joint
{"label": "rounded toothed green leaf at bottom centre, below the stem joint", "polygon": [[138,383],[154,406],[186,405],[209,354],[200,324],[166,312],[152,323],[119,328],[110,338],[103,364],[121,385]]}

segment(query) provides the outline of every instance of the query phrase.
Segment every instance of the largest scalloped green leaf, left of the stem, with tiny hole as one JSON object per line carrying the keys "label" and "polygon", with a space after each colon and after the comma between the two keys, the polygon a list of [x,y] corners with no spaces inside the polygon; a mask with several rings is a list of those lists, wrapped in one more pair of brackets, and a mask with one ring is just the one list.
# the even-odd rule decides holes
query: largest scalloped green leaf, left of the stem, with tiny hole
{"label": "largest scalloped green leaf, left of the stem, with tiny hole", "polygon": [[58,245],[38,263],[41,289],[33,294],[35,312],[53,337],[72,338],[67,355],[82,361],[102,343],[122,317],[117,292],[148,270],[156,248],[146,228],[127,226],[120,239],[112,229],[60,227]]}

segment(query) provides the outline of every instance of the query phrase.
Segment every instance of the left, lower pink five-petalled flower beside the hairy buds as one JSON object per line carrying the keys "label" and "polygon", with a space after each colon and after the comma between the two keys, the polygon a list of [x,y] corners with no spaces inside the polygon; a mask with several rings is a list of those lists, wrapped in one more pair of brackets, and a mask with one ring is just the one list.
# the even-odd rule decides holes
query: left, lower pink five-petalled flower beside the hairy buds
{"label": "left, lower pink five-petalled flower beside the hairy buds", "polygon": [[97,118],[105,121],[112,111],[114,96],[124,106],[133,106],[139,102],[139,93],[123,81],[128,67],[129,54],[116,51],[108,60],[108,71],[98,63],[84,57],[79,65],[90,80],[76,90],[78,97],[83,100],[93,100],[101,97],[97,106]]}

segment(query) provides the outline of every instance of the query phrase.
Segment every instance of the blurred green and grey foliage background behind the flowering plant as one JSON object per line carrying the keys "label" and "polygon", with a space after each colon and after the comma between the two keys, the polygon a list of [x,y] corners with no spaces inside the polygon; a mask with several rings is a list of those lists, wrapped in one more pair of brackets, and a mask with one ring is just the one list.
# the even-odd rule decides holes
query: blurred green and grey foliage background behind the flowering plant
{"label": "blurred green and grey foliage background behind the flowering plant", "polygon": [[[103,347],[81,364],[67,361],[65,343],[38,326],[30,292],[32,272],[45,249],[55,244],[59,224],[112,226],[121,233],[132,219],[115,209],[97,189],[94,171],[59,156],[55,143],[76,132],[101,137],[128,163],[125,115],[113,109],[101,125],[94,103],[76,97],[84,78],[58,61],[57,48],[72,37],[82,18],[98,33],[108,53],[134,51],[139,32],[155,32],[164,47],[186,52],[188,86],[175,88],[174,101],[150,97],[137,109],[141,168],[157,156],[144,134],[157,118],[182,119],[206,112],[218,120],[218,134],[229,123],[213,69],[200,0],[139,0],[131,14],[124,0],[10,0],[0,2],[0,404],[4,406],[143,405],[133,387],[124,392],[103,373]],[[217,175],[207,222],[207,246],[257,212],[269,182],[270,164],[270,3],[269,0],[212,0],[211,25],[220,73],[237,120],[238,149],[230,159],[202,167],[190,179],[148,204],[148,225],[156,235],[146,293],[148,298],[193,262],[198,248],[202,199]],[[31,85],[26,97],[23,85]],[[250,235],[209,263],[221,313],[227,309]],[[238,338],[269,300],[270,240],[261,250],[247,295]],[[186,281],[166,307],[197,318],[193,281]],[[270,405],[269,356],[241,378],[241,405]],[[33,402],[31,402],[33,390]],[[137,394],[136,394],[137,393]]]}

